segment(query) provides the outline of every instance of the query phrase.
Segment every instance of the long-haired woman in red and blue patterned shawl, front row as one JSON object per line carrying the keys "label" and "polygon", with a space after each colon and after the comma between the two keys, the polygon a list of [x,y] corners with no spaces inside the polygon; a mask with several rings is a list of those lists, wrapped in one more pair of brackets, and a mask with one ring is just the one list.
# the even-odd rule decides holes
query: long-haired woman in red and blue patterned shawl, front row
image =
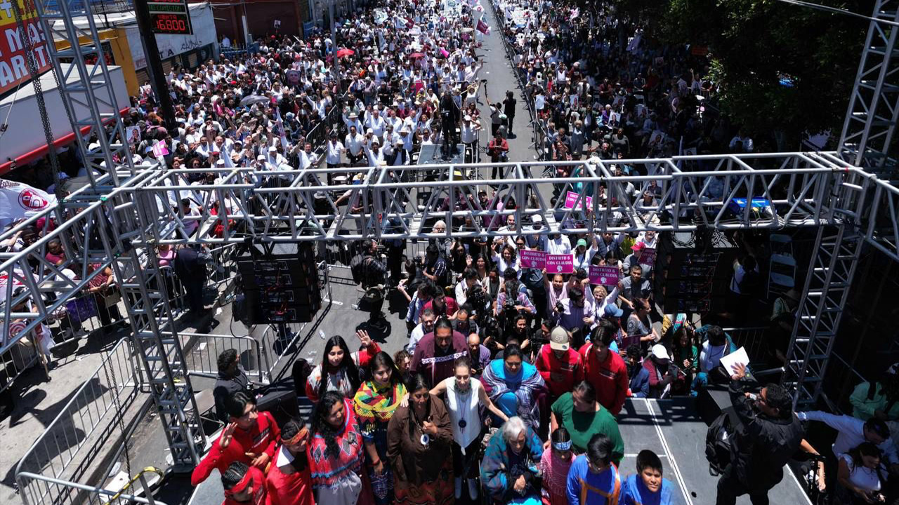
{"label": "long-haired woman in red and blue patterned shawl, front row", "polygon": [[317,505],[372,505],[352,401],[328,391],[316,404],[307,456]]}

